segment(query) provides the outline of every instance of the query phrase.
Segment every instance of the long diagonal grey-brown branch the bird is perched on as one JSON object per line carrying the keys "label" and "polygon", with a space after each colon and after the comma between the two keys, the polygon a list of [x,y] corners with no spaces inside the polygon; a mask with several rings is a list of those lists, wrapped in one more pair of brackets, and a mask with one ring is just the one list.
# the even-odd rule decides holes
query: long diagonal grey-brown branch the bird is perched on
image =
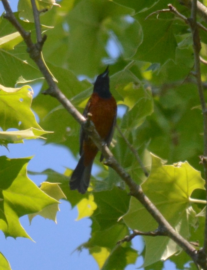
{"label": "long diagonal grey-brown branch the bird is perched on", "polygon": [[39,67],[40,71],[42,72],[43,76],[45,77],[49,88],[44,92],[44,94],[49,94],[50,96],[55,97],[59,102],[65,107],[65,109],[76,119],[76,121],[82,125],[83,129],[87,134],[92,138],[96,146],[102,151],[104,157],[109,166],[111,166],[118,175],[124,180],[124,182],[128,185],[130,189],[130,194],[138,199],[142,205],[146,208],[146,210],[154,217],[154,219],[158,222],[160,228],[162,228],[163,233],[170,237],[174,242],[176,242],[197,264],[199,264],[204,270],[207,270],[207,265],[205,262],[201,262],[199,260],[198,254],[196,249],[187,241],[185,240],[178,232],[174,230],[174,228],[168,223],[168,221],[164,218],[164,216],[160,213],[160,211],[155,207],[155,205],[150,201],[150,199],[143,193],[142,188],[140,185],[136,184],[134,180],[130,177],[130,175],[122,168],[122,166],[117,162],[114,158],[111,151],[108,149],[106,144],[101,141],[98,133],[95,130],[95,127],[90,124],[86,119],[80,114],[78,110],[71,104],[71,102],[64,96],[64,94],[60,91],[58,86],[53,80],[53,77],[47,70],[47,67],[44,64],[43,59],[41,58],[41,44],[43,45],[43,40],[46,38],[40,38],[39,31],[40,23],[39,23],[39,15],[36,12],[35,1],[31,0],[33,3],[33,13],[35,18],[35,25],[36,25],[36,32],[37,32],[37,43],[33,44],[30,34],[26,32],[21,24],[16,20],[15,16],[13,15],[9,3],[7,0],[2,0],[4,5],[6,14],[5,18],[13,24],[13,26],[19,31],[21,36],[23,37],[25,43],[28,47],[28,52],[30,57],[35,61],[37,66]]}

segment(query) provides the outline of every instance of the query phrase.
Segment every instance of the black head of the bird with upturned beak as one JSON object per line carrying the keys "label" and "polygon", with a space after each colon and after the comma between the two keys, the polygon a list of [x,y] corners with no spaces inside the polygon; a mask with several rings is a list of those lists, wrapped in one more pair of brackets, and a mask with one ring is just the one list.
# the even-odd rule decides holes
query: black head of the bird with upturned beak
{"label": "black head of the bird with upturned beak", "polygon": [[96,78],[93,92],[99,94],[101,98],[110,98],[112,96],[109,90],[109,67]]}

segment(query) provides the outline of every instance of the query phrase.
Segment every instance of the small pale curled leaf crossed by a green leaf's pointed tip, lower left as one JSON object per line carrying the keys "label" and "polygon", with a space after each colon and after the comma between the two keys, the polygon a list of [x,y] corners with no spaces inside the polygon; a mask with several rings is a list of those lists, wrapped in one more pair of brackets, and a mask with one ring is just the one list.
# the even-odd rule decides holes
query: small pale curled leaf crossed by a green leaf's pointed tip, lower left
{"label": "small pale curled leaf crossed by a green leaf's pointed tip, lower left", "polygon": [[[57,183],[49,183],[49,182],[43,182],[41,184],[40,189],[44,191],[47,195],[54,198],[55,200],[59,201],[60,199],[66,199],[65,194],[62,192],[61,188],[59,187],[59,184]],[[29,214],[29,222],[31,224],[31,221],[33,217],[36,215],[41,215],[45,219],[48,218],[50,220],[53,220],[55,223],[57,223],[56,220],[56,213],[57,211],[60,211],[59,209],[59,203],[54,203],[52,205],[46,206],[43,210],[41,210],[38,213]]]}

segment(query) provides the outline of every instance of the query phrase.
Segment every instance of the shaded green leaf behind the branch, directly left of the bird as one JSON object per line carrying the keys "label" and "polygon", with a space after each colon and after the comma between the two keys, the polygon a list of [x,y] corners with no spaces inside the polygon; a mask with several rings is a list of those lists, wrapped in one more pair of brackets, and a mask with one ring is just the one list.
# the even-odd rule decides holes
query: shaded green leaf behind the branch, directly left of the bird
{"label": "shaded green leaf behind the branch, directly left of the bird", "polygon": [[[55,74],[58,80],[58,86],[65,96],[71,100],[74,105],[79,105],[83,100],[82,92],[91,86],[87,81],[79,81],[77,77],[69,70],[57,67],[47,63],[49,69]],[[43,84],[43,89],[47,86]],[[80,94],[80,98],[74,101],[74,96]],[[85,97],[84,97],[85,98]],[[77,153],[79,140],[79,124],[73,117],[60,106],[55,98],[39,94],[32,102],[32,109],[40,118],[40,125],[45,130],[54,131],[47,138],[47,143],[56,142],[67,145],[71,151]],[[59,121],[64,119],[64,121]],[[76,148],[76,149],[75,149]]]}

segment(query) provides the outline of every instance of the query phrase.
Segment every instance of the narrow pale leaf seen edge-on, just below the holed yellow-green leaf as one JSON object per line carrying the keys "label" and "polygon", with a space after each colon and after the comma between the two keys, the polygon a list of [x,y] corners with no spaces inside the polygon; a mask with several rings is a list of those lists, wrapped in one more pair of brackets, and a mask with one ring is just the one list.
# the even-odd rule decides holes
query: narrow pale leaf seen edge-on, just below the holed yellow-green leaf
{"label": "narrow pale leaf seen edge-on, just below the holed yellow-green leaf", "polygon": [[23,143],[23,139],[44,139],[41,135],[46,133],[52,132],[34,129],[33,127],[18,131],[0,131],[0,145],[7,145],[8,143]]}

